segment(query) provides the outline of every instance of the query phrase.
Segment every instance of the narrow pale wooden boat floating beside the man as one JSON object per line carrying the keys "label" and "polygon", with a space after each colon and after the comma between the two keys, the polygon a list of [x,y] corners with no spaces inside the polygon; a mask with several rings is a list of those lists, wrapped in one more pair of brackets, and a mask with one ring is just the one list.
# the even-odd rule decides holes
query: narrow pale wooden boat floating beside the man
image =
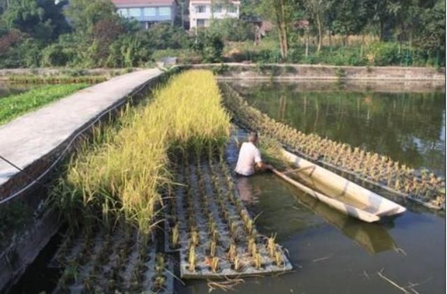
{"label": "narrow pale wooden boat floating beside the man", "polygon": [[273,172],[287,182],[305,191],[332,208],[362,221],[372,223],[383,216],[402,214],[406,208],[383,198],[362,186],[340,177],[321,166],[282,150],[284,158],[297,170],[298,180],[288,177],[284,172]]}

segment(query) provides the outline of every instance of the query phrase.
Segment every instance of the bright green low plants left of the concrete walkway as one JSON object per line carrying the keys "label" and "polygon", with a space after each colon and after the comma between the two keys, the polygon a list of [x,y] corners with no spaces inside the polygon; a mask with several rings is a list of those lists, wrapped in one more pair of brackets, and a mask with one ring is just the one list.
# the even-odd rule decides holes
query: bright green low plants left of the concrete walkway
{"label": "bright green low plants left of the concrete walkway", "polygon": [[6,124],[20,115],[36,110],[41,106],[66,97],[89,84],[59,84],[31,89],[22,94],[0,99],[0,125]]}

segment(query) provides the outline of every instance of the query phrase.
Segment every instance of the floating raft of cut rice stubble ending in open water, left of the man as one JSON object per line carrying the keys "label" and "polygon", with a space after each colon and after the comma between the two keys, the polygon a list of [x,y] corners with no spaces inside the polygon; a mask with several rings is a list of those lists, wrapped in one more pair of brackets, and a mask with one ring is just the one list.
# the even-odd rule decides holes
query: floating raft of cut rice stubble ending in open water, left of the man
{"label": "floating raft of cut rice stubble ending in open water, left of the man", "polygon": [[[227,164],[179,156],[177,182],[168,198],[166,251],[179,251],[187,279],[243,277],[292,269],[274,236],[260,235],[235,189]],[[175,194],[175,196],[174,196]]]}

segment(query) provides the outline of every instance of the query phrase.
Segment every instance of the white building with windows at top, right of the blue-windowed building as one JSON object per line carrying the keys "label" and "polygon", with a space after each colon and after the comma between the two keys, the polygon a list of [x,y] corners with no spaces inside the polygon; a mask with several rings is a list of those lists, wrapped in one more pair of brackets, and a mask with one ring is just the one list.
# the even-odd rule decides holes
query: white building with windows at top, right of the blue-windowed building
{"label": "white building with windows at top, right of the blue-windowed building", "polygon": [[190,0],[189,26],[209,27],[212,19],[239,18],[240,1]]}

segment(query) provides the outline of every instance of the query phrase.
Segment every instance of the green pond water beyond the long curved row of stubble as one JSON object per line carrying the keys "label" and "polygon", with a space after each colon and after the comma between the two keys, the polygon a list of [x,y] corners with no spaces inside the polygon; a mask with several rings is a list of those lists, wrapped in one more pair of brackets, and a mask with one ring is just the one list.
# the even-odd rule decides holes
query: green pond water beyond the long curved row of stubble
{"label": "green pond water beyond the long curved row of stubble", "polygon": [[334,82],[230,85],[250,105],[304,133],[317,133],[390,156],[412,168],[427,168],[444,175],[444,88],[422,87],[421,91],[394,85],[392,89],[349,89]]}

